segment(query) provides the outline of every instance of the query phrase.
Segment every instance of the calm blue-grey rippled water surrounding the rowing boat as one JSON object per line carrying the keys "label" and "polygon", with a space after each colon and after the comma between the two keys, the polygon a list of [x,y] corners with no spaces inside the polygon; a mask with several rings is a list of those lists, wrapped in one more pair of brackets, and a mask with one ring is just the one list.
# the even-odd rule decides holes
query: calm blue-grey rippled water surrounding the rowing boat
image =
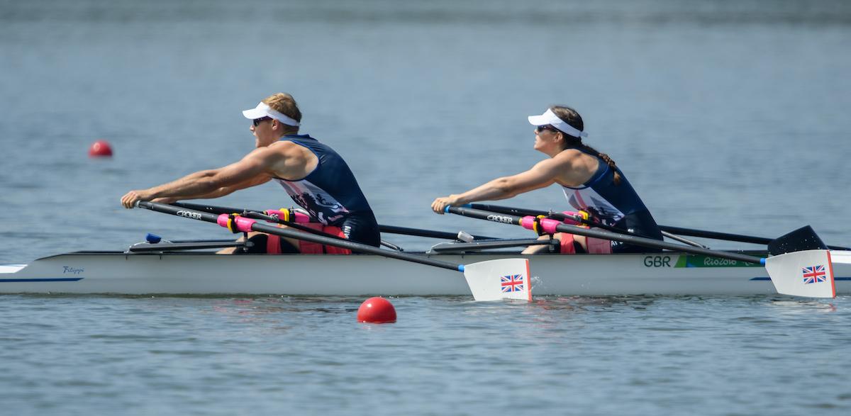
{"label": "calm blue-grey rippled water surrounding the rowing boat", "polygon": [[[536,9],[540,8],[540,9]],[[543,155],[574,106],[664,225],[851,244],[851,3],[0,0],[0,264],[223,238],[126,191],[234,162],[294,94],[383,224]],[[109,140],[110,160],[86,157]],[[279,208],[276,185],[221,205]],[[506,204],[562,208],[555,188]],[[425,249],[436,241],[386,239]],[[713,248],[734,243],[711,242]],[[569,273],[569,271],[565,271]],[[0,296],[9,414],[846,414],[851,297]]]}

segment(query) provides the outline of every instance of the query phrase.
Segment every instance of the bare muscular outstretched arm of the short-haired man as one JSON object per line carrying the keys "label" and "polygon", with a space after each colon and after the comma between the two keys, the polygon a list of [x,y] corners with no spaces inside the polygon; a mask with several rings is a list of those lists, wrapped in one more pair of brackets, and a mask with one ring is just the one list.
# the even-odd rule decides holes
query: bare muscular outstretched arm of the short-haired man
{"label": "bare muscular outstretched arm of the short-haired man", "polygon": [[260,148],[224,168],[209,169],[188,174],[179,180],[154,186],[146,190],[129,191],[121,198],[125,208],[133,208],[137,201],[177,201],[197,197],[221,197],[233,191],[260,185],[271,179],[270,171],[276,163],[286,158],[281,152]]}

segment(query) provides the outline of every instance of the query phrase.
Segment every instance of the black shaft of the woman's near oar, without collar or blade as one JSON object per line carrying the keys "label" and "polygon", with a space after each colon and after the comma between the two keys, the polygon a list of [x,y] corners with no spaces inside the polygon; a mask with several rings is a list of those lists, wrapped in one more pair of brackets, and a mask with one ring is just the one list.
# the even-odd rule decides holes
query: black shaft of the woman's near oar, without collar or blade
{"label": "black shaft of the woman's near oar, without collar or blade", "polygon": [[[477,219],[485,219],[488,221],[504,223],[504,224],[514,224],[520,225],[520,221],[522,217],[511,214],[494,214],[493,212],[483,211],[480,209],[473,208],[461,208],[461,207],[448,207],[447,211],[452,214],[464,215],[465,217],[477,218]],[[691,254],[703,254],[711,257],[718,257],[722,259],[731,259],[731,260],[739,260],[745,261],[748,263],[756,263],[762,264],[762,259],[759,257],[747,255],[747,254],[738,254],[738,253],[728,253],[722,251],[711,250],[709,248],[700,248],[694,246],[684,246],[682,244],[674,244],[672,242],[664,242],[660,240],[654,240],[652,238],[645,238],[642,236],[632,236],[629,234],[620,234],[614,233],[610,231],[603,230],[595,230],[590,228],[582,228],[575,225],[567,225],[567,224],[559,224],[556,225],[556,231],[558,232],[567,232],[568,234],[576,234],[579,236],[590,236],[594,238],[601,238],[603,240],[614,240],[617,242],[626,242],[629,244],[635,244],[637,246],[649,247],[649,248],[663,248],[668,250],[679,251],[683,253],[691,253]]]}

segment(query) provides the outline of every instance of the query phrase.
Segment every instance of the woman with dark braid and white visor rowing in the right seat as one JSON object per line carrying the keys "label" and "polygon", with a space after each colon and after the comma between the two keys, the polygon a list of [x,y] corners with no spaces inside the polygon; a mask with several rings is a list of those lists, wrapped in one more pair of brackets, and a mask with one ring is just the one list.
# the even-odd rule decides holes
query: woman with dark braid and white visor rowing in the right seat
{"label": "woman with dark braid and white visor rowing in the right seat", "polygon": [[[534,150],[550,158],[526,172],[491,180],[461,194],[439,197],[431,202],[431,209],[443,214],[447,206],[510,198],[555,183],[562,186],[570,206],[591,214],[592,220],[639,236],[662,239],[659,225],[614,160],[582,143],[582,138],[588,134],[578,112],[556,105],[540,116],[529,116],[528,120],[536,126]],[[561,252],[565,254],[653,251],[624,242],[567,233],[557,233],[554,237],[561,241]],[[523,253],[544,249],[546,246],[532,246]]]}

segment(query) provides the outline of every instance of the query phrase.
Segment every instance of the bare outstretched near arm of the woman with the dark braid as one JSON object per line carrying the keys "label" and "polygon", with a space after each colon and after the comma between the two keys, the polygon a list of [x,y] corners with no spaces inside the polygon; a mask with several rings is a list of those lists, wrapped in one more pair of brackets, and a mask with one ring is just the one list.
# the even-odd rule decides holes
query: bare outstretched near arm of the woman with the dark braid
{"label": "bare outstretched near arm of the woman with the dark braid", "polygon": [[437,214],[443,214],[443,209],[447,206],[494,201],[534,191],[555,183],[558,173],[568,168],[568,165],[569,161],[562,158],[546,159],[526,172],[491,180],[461,194],[439,197],[431,202],[431,209]]}

